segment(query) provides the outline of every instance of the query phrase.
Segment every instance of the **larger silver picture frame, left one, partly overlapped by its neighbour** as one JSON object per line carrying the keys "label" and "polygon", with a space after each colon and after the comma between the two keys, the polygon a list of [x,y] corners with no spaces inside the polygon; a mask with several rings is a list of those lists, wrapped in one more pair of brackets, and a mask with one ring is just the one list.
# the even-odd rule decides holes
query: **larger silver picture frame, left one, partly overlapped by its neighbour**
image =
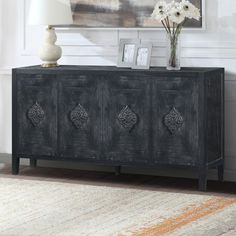
{"label": "larger silver picture frame, left one, partly overlapped by its neighbour", "polygon": [[119,45],[118,67],[132,67],[140,39],[121,39]]}

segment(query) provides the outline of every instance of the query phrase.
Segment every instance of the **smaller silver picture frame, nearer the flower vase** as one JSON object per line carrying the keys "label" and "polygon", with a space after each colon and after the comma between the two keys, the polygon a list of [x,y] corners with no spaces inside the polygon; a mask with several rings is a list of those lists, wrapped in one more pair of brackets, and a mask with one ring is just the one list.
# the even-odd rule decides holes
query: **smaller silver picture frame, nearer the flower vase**
{"label": "smaller silver picture frame, nearer the flower vase", "polygon": [[149,69],[151,63],[152,44],[140,44],[136,46],[133,69]]}

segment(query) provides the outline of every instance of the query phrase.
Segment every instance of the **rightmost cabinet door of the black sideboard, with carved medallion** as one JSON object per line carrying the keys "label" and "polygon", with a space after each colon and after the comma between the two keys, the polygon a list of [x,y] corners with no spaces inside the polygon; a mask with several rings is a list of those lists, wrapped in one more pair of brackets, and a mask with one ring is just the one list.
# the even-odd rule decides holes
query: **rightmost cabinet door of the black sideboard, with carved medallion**
{"label": "rightmost cabinet door of the black sideboard, with carved medallion", "polygon": [[153,86],[153,161],[190,165],[198,159],[198,84],[163,78]]}

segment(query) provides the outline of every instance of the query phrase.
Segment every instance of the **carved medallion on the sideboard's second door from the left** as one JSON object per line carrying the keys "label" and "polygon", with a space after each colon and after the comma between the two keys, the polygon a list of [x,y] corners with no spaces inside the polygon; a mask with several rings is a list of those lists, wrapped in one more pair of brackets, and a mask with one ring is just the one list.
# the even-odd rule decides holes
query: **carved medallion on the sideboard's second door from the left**
{"label": "carved medallion on the sideboard's second door from the left", "polygon": [[70,113],[70,120],[77,129],[81,129],[88,121],[88,113],[78,104]]}

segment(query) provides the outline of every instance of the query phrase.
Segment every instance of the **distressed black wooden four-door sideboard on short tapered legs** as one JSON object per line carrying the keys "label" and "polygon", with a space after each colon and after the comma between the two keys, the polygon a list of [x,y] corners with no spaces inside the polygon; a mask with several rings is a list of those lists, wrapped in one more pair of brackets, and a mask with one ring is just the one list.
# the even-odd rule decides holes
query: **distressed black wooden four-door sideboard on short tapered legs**
{"label": "distressed black wooden four-door sideboard on short tapered legs", "polygon": [[20,158],[224,172],[224,69],[13,69],[12,173]]}

